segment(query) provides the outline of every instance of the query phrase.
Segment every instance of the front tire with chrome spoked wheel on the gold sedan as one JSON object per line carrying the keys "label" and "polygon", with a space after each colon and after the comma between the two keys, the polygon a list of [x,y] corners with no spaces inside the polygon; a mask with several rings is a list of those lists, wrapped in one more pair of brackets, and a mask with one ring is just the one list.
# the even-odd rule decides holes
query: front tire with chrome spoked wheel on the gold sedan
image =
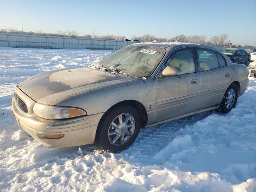
{"label": "front tire with chrome spoked wheel on the gold sedan", "polygon": [[107,112],[101,120],[96,144],[109,152],[125,150],[140,131],[140,115],[132,106],[119,106]]}

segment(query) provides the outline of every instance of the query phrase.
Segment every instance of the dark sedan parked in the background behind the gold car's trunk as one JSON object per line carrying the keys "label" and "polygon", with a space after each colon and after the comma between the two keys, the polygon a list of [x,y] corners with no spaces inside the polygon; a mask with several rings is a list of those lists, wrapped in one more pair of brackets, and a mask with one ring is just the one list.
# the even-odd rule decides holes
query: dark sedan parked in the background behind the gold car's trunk
{"label": "dark sedan parked in the background behind the gold car's trunk", "polygon": [[224,53],[233,63],[245,64],[247,67],[250,63],[251,55],[242,49],[222,49],[222,53]]}

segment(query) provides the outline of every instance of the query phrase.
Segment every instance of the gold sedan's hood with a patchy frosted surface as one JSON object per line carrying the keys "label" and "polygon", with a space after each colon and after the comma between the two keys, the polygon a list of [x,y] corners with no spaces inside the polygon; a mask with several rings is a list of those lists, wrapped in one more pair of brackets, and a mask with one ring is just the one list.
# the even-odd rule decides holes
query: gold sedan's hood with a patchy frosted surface
{"label": "gold sedan's hood with a patchy frosted surface", "polygon": [[80,92],[136,79],[84,67],[44,72],[28,78],[18,87],[36,102],[51,104]]}

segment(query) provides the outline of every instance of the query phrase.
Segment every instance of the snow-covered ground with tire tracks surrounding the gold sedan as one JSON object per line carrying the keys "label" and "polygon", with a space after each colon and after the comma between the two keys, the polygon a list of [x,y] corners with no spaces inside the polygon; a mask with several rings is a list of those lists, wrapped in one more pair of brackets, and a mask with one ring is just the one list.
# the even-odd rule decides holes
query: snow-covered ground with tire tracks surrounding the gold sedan
{"label": "snow-covered ground with tire tracks surrounding the gold sedan", "polygon": [[204,112],[141,130],[118,154],[46,148],[18,128],[10,105],[19,82],[108,54],[0,48],[0,191],[256,191],[255,78],[228,114]]}

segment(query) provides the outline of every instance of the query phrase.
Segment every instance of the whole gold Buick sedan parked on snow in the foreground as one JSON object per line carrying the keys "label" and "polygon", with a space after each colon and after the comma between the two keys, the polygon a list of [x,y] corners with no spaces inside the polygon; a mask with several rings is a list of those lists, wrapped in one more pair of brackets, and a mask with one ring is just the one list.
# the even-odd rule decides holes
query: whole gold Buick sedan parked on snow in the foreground
{"label": "whole gold Buick sedan parked on snow in the foreground", "polygon": [[44,146],[95,142],[119,152],[140,128],[207,110],[229,112],[248,83],[246,66],[210,46],[141,43],[91,68],[28,78],[14,89],[12,112],[20,128]]}

